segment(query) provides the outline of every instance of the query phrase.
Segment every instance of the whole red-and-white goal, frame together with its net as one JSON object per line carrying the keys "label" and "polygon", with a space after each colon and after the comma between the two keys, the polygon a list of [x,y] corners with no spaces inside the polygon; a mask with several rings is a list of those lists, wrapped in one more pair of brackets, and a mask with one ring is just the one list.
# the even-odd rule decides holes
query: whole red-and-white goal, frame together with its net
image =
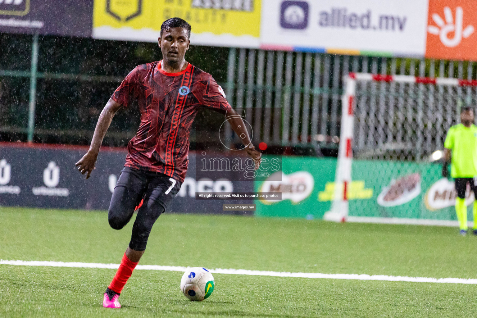
{"label": "whole red-and-white goal, frame together with its net", "polygon": [[477,81],[368,73],[343,81],[334,196],[324,219],[455,220],[453,183],[441,178],[438,160],[460,109],[476,105]]}

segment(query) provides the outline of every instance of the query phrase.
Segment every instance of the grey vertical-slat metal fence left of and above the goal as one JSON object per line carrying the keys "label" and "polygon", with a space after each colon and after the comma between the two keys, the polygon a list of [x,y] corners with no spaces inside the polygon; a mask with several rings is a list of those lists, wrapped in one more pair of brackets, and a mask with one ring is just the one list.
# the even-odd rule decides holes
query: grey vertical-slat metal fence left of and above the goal
{"label": "grey vertical-slat metal fence left of and above the goal", "polygon": [[[237,50],[234,66],[238,75],[228,86],[234,89],[229,101],[237,108],[253,108],[252,117],[263,117],[250,118],[257,140],[280,145],[330,147],[338,143],[342,75],[348,72],[460,79],[477,76],[473,62]],[[459,88],[456,99],[468,96],[463,90],[469,89]],[[377,103],[383,101],[380,96]],[[278,116],[276,109],[280,109]]]}

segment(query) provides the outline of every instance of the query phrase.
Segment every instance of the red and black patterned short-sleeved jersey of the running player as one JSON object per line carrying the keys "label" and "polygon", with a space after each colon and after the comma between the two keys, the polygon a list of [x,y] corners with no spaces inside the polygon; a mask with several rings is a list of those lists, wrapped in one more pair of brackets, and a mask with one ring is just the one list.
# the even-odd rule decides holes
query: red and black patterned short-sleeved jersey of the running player
{"label": "red and black patterned short-sleeved jersey of the running player", "polygon": [[160,172],[184,181],[189,129],[199,107],[231,109],[214,78],[192,64],[179,73],[162,70],[161,62],[137,66],[111,98],[127,107],[137,99],[141,123],[127,145],[125,166]]}

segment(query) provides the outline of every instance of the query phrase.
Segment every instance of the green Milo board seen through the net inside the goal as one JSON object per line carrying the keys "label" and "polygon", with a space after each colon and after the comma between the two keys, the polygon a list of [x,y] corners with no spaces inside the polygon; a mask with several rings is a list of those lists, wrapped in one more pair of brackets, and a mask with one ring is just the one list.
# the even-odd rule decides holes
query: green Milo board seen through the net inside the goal
{"label": "green Milo board seen through the net inside the goal", "polygon": [[[440,164],[357,160],[352,169],[353,180],[365,180],[373,196],[350,199],[350,216],[457,219],[454,181],[441,176]],[[473,201],[467,186],[466,203]]]}

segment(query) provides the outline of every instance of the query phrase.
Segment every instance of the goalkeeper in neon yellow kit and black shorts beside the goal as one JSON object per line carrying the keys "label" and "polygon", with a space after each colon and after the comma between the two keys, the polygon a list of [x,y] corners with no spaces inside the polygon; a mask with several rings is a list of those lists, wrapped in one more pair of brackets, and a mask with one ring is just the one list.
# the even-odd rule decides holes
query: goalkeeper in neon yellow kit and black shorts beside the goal
{"label": "goalkeeper in neon yellow kit and black shorts beside the goal", "polygon": [[[467,235],[467,206],[465,203],[467,184],[477,198],[477,127],[474,125],[474,111],[464,107],[460,112],[458,125],[450,127],[444,142],[444,164],[442,175],[449,175],[447,164],[451,163],[450,175],[456,183],[456,214],[460,234]],[[477,235],[477,201],[472,209],[474,214],[473,233]]]}

